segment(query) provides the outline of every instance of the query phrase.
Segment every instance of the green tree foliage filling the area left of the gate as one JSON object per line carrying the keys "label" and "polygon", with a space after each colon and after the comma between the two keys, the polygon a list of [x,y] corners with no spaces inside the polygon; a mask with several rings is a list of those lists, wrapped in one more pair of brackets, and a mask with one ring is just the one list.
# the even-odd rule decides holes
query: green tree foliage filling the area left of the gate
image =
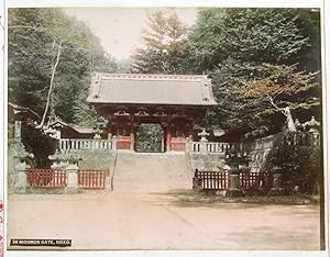
{"label": "green tree foliage filling the area left of the gate", "polygon": [[43,114],[61,44],[51,109],[66,122],[84,121],[84,112],[76,119],[76,110],[85,105],[90,113],[86,102],[90,72],[117,69],[98,38],[61,9],[9,9],[8,26],[9,101]]}

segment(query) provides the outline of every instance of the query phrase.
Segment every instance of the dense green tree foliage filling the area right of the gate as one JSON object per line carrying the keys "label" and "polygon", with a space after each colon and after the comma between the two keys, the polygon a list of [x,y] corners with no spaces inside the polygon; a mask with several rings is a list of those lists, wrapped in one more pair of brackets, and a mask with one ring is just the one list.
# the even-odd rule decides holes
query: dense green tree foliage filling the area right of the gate
{"label": "dense green tree foliage filling the area right of the gate", "polygon": [[[278,123],[278,114],[263,98],[266,85],[267,89],[275,87],[275,94],[284,91],[278,97],[280,108],[293,107],[298,115],[302,113],[300,110],[316,111],[320,107],[320,87],[309,71],[320,67],[319,20],[319,13],[308,9],[200,11],[188,35],[190,67],[186,68],[207,71],[212,78],[218,105],[204,124],[251,130]],[[258,72],[261,67],[267,72]],[[290,85],[272,83],[276,76],[286,77]],[[246,89],[249,92],[244,93]]]}

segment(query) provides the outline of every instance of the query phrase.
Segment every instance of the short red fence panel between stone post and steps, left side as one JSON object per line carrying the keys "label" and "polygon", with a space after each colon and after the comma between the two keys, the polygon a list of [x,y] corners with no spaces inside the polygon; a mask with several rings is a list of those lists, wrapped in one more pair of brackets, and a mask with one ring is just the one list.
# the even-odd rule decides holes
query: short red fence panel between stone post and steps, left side
{"label": "short red fence panel between stone post and steps, left side", "polygon": [[79,170],[78,185],[84,189],[105,189],[109,170]]}

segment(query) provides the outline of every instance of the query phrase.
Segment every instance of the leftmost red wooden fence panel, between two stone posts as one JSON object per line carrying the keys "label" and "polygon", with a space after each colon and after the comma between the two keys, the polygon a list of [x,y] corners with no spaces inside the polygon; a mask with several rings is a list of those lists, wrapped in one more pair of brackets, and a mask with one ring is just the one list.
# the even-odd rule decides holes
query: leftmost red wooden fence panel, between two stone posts
{"label": "leftmost red wooden fence panel, between two stone posts", "polygon": [[65,188],[67,174],[59,169],[30,169],[28,185],[35,188]]}

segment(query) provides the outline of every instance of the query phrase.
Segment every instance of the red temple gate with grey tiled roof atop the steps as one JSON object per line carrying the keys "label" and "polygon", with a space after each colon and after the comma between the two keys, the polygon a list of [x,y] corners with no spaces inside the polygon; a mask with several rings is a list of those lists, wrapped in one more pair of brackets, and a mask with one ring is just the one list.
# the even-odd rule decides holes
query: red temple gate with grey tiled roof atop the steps
{"label": "red temple gate with grey tiled roof atop the steps", "polygon": [[194,137],[194,121],[215,105],[206,76],[95,72],[88,102],[108,120],[108,138],[118,149],[135,150],[139,126],[160,124],[164,150],[185,150]]}

